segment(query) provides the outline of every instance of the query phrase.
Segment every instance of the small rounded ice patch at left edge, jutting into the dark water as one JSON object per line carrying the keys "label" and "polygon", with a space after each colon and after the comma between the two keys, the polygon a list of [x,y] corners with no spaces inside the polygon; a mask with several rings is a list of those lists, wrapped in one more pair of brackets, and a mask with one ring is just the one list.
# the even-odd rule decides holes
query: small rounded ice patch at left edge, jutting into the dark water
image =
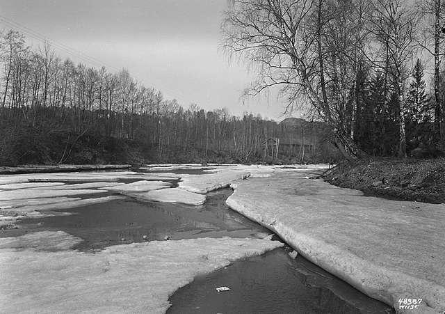
{"label": "small rounded ice patch at left edge, jutting into the dark water", "polygon": [[63,231],[40,231],[20,237],[0,237],[0,256],[1,252],[4,252],[1,249],[61,251],[71,249],[82,241],[80,237],[74,237]]}

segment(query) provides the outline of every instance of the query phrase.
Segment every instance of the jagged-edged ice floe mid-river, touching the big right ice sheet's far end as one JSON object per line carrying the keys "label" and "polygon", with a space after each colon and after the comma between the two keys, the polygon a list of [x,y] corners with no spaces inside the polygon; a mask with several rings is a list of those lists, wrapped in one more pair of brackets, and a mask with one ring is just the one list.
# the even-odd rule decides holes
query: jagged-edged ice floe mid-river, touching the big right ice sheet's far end
{"label": "jagged-edged ice floe mid-river, touching the big right ice sheet's far end", "polygon": [[218,173],[206,175],[183,175],[179,187],[195,193],[205,194],[209,191],[228,187],[232,182],[248,178],[250,173],[218,168]]}

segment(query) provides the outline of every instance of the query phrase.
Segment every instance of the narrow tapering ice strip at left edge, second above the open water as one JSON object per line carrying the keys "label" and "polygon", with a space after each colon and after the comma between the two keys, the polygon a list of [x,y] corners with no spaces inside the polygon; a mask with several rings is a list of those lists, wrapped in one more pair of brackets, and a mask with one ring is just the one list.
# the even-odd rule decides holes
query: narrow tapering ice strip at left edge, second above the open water
{"label": "narrow tapering ice strip at left edge, second above the open water", "polygon": [[107,191],[100,189],[17,189],[14,191],[0,191],[0,201],[12,201],[26,198],[48,198],[70,195],[99,194]]}

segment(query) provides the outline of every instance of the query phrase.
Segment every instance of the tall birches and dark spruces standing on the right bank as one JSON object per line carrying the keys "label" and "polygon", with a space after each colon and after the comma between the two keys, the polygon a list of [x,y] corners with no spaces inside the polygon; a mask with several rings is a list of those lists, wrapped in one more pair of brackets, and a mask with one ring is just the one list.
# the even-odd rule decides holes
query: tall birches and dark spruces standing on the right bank
{"label": "tall birches and dark spruces standing on the right bank", "polygon": [[435,156],[445,151],[444,13],[442,0],[232,0],[223,48],[257,71],[246,96],[277,86],[289,111],[330,126],[344,157]]}

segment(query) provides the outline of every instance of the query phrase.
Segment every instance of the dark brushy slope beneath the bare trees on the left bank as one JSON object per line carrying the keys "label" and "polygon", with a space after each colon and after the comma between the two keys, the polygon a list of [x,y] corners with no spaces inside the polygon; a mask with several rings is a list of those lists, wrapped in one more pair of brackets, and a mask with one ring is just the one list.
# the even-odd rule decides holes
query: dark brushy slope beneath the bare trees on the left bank
{"label": "dark brushy slope beneath the bare trees on the left bank", "polygon": [[[1,124],[1,123],[0,123]],[[0,132],[2,131],[0,125]],[[274,162],[275,164],[302,162],[296,156],[280,152],[275,158],[264,157],[263,152],[241,152],[218,146],[200,147],[195,142],[172,141],[166,145],[151,143],[146,138],[127,139],[101,136],[97,132],[77,134],[26,129],[19,134],[3,129],[0,139],[0,166],[23,164],[153,164],[153,163],[246,163]],[[151,136],[150,136],[151,138]],[[173,144],[173,142],[177,144]],[[308,158],[308,157],[307,157]],[[318,156],[303,162],[326,162],[328,157]]]}

